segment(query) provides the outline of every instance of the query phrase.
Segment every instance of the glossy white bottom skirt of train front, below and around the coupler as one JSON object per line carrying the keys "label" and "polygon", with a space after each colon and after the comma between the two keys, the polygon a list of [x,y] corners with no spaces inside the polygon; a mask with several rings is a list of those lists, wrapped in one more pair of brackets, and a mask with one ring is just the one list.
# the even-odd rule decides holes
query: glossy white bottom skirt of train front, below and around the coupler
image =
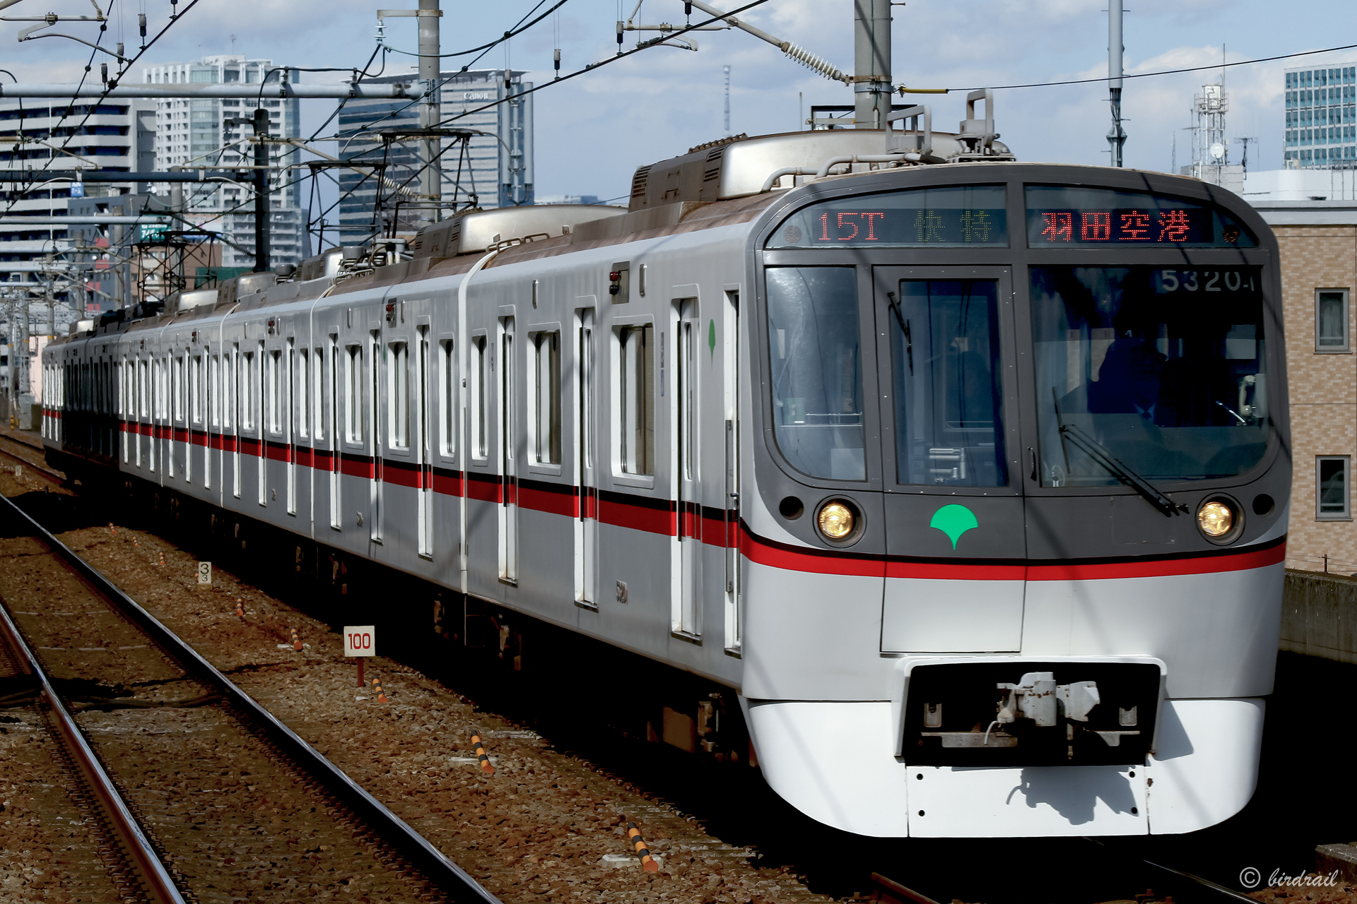
{"label": "glossy white bottom skirt of train front, below and around the coupler", "polygon": [[764,778],[806,816],[874,836],[1193,832],[1253,797],[1262,699],[1164,701],[1147,766],[911,767],[889,701],[744,701]]}

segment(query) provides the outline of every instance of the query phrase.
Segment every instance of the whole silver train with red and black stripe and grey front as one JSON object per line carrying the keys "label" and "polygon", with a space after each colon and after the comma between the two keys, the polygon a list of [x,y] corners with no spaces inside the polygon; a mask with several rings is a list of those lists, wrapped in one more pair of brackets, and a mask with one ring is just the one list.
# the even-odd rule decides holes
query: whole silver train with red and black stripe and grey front
{"label": "whole silver train with red and black stripe and grey front", "polygon": [[829,825],[1198,829],[1273,683],[1277,243],[995,138],[731,138],[186,293],[47,347],[43,438],[733,689]]}

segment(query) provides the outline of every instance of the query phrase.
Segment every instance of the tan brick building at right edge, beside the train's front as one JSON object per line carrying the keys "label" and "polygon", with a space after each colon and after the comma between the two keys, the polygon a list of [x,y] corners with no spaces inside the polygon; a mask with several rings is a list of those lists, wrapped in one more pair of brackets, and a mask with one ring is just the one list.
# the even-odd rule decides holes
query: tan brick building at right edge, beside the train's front
{"label": "tan brick building at right edge, beside the train's front", "polygon": [[1295,477],[1286,568],[1357,573],[1357,202],[1254,201],[1277,233]]}

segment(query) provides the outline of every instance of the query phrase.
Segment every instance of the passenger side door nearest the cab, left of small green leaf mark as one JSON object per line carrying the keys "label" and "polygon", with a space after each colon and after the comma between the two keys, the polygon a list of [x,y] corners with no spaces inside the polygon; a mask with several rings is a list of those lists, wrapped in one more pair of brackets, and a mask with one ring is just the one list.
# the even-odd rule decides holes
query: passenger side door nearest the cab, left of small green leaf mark
{"label": "passenger side door nearest the cab, left of small green leaf mark", "polygon": [[674,595],[670,630],[680,637],[696,640],[702,636],[702,481],[700,436],[697,435],[697,335],[702,321],[697,300],[674,301],[674,386],[677,407],[677,442],[674,458],[678,480],[678,579]]}

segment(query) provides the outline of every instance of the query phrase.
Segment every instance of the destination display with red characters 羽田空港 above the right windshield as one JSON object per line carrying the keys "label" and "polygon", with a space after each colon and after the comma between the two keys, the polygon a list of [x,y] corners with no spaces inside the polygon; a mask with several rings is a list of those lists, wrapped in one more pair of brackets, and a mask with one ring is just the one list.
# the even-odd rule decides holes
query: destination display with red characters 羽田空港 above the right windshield
{"label": "destination display with red characters \u7fbd\u7530\u7a7a\u6e2f above the right windshield", "polygon": [[1027,244],[1257,247],[1254,237],[1219,207],[1151,192],[1076,186],[1027,186]]}

